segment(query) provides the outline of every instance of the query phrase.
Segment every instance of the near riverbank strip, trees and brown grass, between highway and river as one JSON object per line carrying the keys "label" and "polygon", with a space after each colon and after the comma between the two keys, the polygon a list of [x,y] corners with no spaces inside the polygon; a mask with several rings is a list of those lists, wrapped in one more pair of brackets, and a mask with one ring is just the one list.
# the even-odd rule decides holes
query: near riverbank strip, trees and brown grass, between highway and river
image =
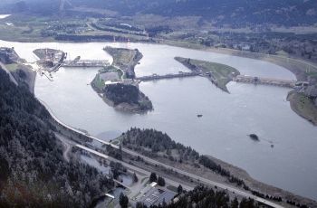
{"label": "near riverbank strip, trees and brown grass, between highway and river", "polygon": [[[270,198],[276,202],[280,202],[279,198],[281,197],[282,203],[280,203],[284,207],[293,207],[287,203],[290,201],[297,204],[306,204],[309,207],[317,206],[316,202],[308,198],[256,181],[245,170],[227,164],[213,156],[199,156],[195,149],[185,147],[179,143],[176,144],[167,134],[153,129],[131,128],[113,142],[120,142],[123,147],[153,158],[160,163],[197,175],[197,177],[211,179],[220,184],[228,184],[242,191],[251,192],[263,198]],[[153,143],[155,146],[152,146]],[[168,170],[161,171],[168,174]]]}

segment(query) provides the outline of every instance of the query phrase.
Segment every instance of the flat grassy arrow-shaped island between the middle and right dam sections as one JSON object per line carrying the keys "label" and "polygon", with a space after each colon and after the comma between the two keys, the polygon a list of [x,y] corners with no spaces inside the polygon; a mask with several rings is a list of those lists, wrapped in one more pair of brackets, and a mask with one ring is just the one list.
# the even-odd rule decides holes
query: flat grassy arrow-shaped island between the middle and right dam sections
{"label": "flat grassy arrow-shaped island between the middle and right dam sections", "polygon": [[228,91],[226,84],[232,80],[233,77],[240,74],[235,68],[210,61],[201,61],[176,57],[175,60],[183,63],[187,68],[192,71],[202,71],[204,73],[210,73],[211,77],[215,80],[215,84],[221,90]]}

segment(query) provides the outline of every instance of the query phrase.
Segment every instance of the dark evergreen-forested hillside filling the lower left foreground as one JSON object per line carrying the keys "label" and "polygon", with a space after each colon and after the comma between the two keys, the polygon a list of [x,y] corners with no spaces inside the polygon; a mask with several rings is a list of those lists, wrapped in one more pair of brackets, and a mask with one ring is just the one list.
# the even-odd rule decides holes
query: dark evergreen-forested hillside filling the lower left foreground
{"label": "dark evergreen-forested hillside filling the lower left foreground", "polygon": [[62,157],[50,115],[0,70],[0,207],[87,207],[112,182]]}

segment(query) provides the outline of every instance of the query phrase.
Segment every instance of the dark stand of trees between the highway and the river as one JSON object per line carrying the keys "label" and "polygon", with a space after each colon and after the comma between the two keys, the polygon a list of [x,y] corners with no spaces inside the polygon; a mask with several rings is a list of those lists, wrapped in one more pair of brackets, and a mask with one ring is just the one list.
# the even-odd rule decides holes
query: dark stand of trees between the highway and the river
{"label": "dark stand of trees between the highway and the river", "polygon": [[170,161],[178,163],[191,162],[194,166],[203,165],[216,174],[226,177],[231,183],[249,189],[243,180],[231,175],[229,171],[216,164],[208,156],[200,156],[195,149],[175,142],[166,133],[154,129],[130,128],[122,135],[122,145],[145,156],[165,156]]}

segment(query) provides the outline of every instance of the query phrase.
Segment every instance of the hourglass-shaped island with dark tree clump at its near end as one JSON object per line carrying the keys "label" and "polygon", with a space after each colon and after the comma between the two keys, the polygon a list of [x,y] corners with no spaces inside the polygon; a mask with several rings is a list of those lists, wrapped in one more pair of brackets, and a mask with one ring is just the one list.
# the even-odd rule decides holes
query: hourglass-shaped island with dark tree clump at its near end
{"label": "hourglass-shaped island with dark tree clump at its near end", "polygon": [[110,66],[98,72],[91,87],[110,106],[121,111],[144,113],[153,109],[152,102],[139,90],[134,67],[143,57],[137,49],[104,48],[113,57]]}

